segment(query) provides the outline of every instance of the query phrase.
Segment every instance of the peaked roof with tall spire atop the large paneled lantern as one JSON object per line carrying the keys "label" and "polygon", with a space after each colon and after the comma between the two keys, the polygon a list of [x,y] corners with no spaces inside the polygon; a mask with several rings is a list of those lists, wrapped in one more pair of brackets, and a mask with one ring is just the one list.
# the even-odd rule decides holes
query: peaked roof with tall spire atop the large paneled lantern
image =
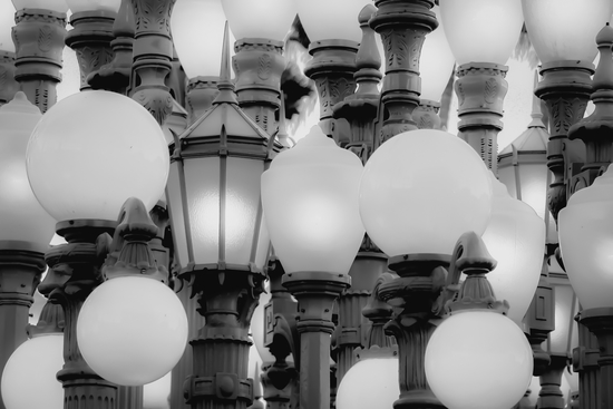
{"label": "peaked roof with tall spire atop the large paneled lantern", "polygon": [[[269,159],[270,147],[280,150],[281,145],[255,124],[239,106],[234,84],[230,79],[230,46],[227,23],[224,33],[222,67],[217,88],[220,94],[206,110],[178,137],[175,135],[178,154],[183,157],[243,156]],[[274,144],[274,146],[269,146]]]}

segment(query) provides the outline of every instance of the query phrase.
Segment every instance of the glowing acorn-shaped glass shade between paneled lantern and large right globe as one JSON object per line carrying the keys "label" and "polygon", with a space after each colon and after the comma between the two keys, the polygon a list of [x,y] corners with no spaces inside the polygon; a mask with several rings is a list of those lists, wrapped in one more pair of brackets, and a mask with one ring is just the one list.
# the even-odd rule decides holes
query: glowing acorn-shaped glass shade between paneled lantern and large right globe
{"label": "glowing acorn-shaped glass shade between paneled lantern and large right globe", "polygon": [[361,173],[358,156],[319,126],[264,172],[264,215],[285,272],[349,272],[364,235],[358,210]]}

